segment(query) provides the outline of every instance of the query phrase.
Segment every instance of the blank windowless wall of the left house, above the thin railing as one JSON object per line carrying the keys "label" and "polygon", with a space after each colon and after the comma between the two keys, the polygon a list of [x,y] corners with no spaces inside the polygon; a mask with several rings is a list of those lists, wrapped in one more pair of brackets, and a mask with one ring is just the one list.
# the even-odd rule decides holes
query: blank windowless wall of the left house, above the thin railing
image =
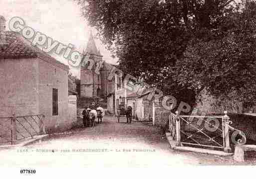
{"label": "blank windowless wall of the left house, above the thin railing", "polygon": [[0,117],[39,113],[37,71],[35,58],[0,60]]}

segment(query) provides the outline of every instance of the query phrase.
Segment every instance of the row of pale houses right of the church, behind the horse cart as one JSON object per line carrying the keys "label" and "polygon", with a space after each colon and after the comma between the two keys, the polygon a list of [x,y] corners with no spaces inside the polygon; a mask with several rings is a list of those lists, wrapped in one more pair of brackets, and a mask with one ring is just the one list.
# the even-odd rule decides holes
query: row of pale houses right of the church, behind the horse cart
{"label": "row of pale houses right of the church, behind the horse cart", "polygon": [[140,85],[134,85],[130,90],[127,83],[121,70],[116,70],[112,80],[108,80],[107,110],[116,115],[120,107],[131,106],[133,119],[152,120],[154,100],[147,99],[152,90]]}

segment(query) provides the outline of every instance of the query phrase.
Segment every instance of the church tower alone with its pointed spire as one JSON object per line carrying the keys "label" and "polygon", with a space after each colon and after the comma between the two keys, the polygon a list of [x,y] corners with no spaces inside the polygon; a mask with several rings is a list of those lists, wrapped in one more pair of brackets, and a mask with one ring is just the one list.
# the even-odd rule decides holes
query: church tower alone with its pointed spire
{"label": "church tower alone with its pointed spire", "polygon": [[[92,36],[92,33],[90,33],[90,37],[87,43],[87,47],[84,50],[85,59],[89,58],[88,63],[93,62],[94,66],[93,68],[87,69],[87,66],[81,66],[81,86],[80,86],[80,95],[81,97],[100,97],[101,91],[102,91],[102,85],[101,85],[101,75],[95,73],[94,69],[97,63],[102,61],[102,55],[100,54],[100,51],[96,47],[96,43],[94,41],[94,38]],[[89,65],[89,64],[87,64]]]}

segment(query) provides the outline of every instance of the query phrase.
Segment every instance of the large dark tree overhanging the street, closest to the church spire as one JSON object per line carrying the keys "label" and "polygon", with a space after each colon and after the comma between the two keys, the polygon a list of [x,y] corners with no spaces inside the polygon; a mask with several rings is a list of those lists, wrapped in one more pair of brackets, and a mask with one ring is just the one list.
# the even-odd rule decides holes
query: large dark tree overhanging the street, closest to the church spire
{"label": "large dark tree overhanging the street, closest to the church spire", "polygon": [[[187,80],[190,74],[186,68],[182,71],[177,66],[186,64],[184,53],[197,41],[226,36],[226,32],[218,35],[215,29],[233,11],[233,1],[78,0],[89,25],[96,27],[119,58],[119,68],[185,101],[193,101],[186,94],[195,95],[200,89]],[[184,82],[177,72],[188,75]]]}

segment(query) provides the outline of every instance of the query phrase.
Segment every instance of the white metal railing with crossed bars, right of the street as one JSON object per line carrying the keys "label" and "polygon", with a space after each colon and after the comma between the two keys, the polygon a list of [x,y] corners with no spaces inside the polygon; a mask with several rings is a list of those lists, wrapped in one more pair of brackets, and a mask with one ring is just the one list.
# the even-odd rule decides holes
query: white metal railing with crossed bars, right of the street
{"label": "white metal railing with crossed bars, right of the street", "polygon": [[[195,120],[198,119],[198,120]],[[171,113],[169,131],[176,146],[197,146],[223,149],[231,152],[227,112],[224,116],[179,115]]]}

